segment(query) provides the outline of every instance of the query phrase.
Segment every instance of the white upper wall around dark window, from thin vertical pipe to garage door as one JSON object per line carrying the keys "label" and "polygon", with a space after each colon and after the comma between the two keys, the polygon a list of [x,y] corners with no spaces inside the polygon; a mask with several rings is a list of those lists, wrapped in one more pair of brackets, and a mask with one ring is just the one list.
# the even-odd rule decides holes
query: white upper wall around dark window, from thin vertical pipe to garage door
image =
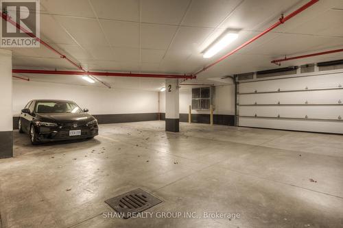
{"label": "white upper wall around dark window, from thin vertical pipe to garage door", "polygon": [[[180,113],[188,114],[191,105],[191,88],[180,88]],[[160,92],[161,112],[165,112],[165,92]],[[193,114],[209,114],[209,111],[192,110]],[[215,112],[214,114],[235,114],[235,86],[215,87]]]}

